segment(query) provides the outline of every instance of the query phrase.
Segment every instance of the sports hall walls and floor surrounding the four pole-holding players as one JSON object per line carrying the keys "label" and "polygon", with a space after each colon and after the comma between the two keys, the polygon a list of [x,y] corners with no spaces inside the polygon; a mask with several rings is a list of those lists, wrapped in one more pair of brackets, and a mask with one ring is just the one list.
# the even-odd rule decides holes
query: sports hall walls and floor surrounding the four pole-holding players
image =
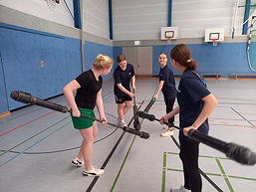
{"label": "sports hall walls and floor surrounding the four pole-holding players", "polygon": [[[158,55],[167,55],[178,86],[170,51],[186,44],[218,99],[209,135],[256,152],[255,21],[255,0],[0,0],[0,191],[167,192],[183,184],[178,130],[163,138],[164,125],[139,118],[150,135],[143,139],[98,123],[94,162],[106,173],[86,177],[71,164],[82,137],[70,114],[10,97],[22,91],[68,106],[63,88],[99,54],[115,61],[103,77],[105,111],[115,124],[117,56],[133,65],[135,101],[144,110],[158,85]],[[160,118],[164,112],[160,94],[148,113]],[[132,120],[130,109],[130,128]],[[199,167],[204,192],[256,191],[256,165],[203,143]]]}

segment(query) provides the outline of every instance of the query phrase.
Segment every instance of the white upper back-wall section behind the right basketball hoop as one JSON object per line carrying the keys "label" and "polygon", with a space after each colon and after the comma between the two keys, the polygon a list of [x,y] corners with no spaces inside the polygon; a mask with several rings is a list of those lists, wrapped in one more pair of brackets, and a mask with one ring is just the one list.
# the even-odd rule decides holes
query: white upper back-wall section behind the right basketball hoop
{"label": "white upper back-wall section behind the right basketball hoop", "polygon": [[[179,38],[204,37],[206,28],[224,28],[231,35],[237,0],[173,0],[172,26],[178,26]],[[245,5],[241,0],[240,5]],[[237,14],[236,35],[242,35],[244,8]]]}

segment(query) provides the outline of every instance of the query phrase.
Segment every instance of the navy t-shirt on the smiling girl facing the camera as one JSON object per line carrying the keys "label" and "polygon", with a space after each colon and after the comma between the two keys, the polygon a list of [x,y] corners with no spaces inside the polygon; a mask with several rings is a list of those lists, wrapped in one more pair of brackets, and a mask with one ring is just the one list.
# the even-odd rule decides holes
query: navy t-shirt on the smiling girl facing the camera
{"label": "navy t-shirt on the smiling girl facing the camera", "polygon": [[163,69],[159,71],[159,82],[164,81],[161,92],[165,99],[174,99],[176,97],[175,80],[172,71],[165,65]]}

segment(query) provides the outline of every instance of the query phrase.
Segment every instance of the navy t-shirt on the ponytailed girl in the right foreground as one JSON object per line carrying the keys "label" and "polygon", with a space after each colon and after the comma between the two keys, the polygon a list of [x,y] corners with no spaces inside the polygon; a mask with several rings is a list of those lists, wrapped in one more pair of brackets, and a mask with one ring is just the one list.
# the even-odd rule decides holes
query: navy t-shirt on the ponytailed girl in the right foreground
{"label": "navy t-shirt on the ponytailed girl in the right foreground", "polygon": [[[177,91],[180,128],[193,124],[204,104],[201,98],[210,94],[211,93],[206,88],[203,77],[198,72],[193,70],[183,72]],[[206,119],[197,130],[208,134],[208,119]],[[179,131],[179,138],[185,141],[188,140],[188,137],[183,134],[182,130]]]}

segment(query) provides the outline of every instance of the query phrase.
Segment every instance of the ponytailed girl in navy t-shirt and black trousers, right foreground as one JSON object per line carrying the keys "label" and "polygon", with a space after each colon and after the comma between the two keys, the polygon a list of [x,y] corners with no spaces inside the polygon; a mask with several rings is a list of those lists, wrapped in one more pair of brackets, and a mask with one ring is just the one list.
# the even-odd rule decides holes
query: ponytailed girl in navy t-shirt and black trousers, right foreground
{"label": "ponytailed girl in navy t-shirt and black trousers, right foreground", "polygon": [[162,116],[165,122],[179,113],[179,157],[183,164],[184,186],[171,189],[172,192],[201,192],[202,180],[198,167],[199,142],[187,137],[189,129],[208,134],[208,116],[217,104],[217,99],[206,88],[202,76],[195,71],[197,63],[191,59],[190,49],[184,45],[176,45],[170,52],[171,64],[182,73],[178,90],[177,102],[172,111]]}

